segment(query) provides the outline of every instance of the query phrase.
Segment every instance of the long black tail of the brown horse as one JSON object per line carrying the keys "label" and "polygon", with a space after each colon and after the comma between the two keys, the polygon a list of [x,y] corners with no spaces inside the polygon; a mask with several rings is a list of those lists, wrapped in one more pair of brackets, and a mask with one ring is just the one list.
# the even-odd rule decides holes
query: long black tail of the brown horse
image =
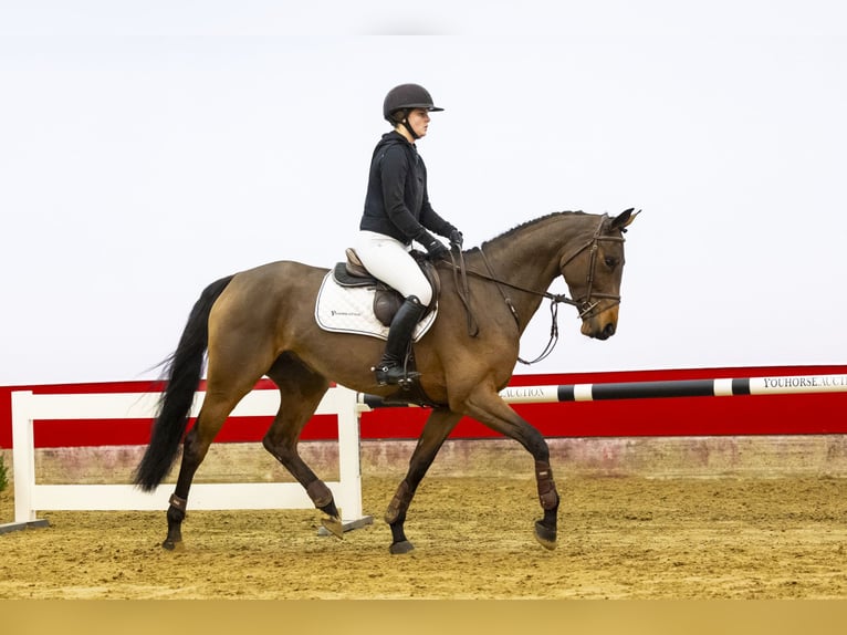
{"label": "long black tail of the brown horse", "polygon": [[203,290],[191,309],[177,350],[161,363],[167,385],[153,424],[150,444],[133,475],[133,482],[145,491],[156,489],[176,461],[195,392],[202,377],[209,345],[209,314],[230,280],[232,275],[212,282]]}

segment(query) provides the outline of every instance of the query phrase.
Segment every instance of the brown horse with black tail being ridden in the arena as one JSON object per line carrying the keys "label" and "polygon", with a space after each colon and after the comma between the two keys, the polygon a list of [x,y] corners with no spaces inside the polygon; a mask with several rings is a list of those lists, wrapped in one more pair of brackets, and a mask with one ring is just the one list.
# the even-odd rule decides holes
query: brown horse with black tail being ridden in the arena
{"label": "brown horse with black tail being ridden in the arena", "polygon": [[[437,319],[414,345],[420,373],[417,397],[411,391],[376,383],[372,364],[383,352],[379,339],[318,326],[315,301],[327,269],[278,261],[209,284],[191,309],[177,348],[161,364],[167,382],[149,445],[133,475],[142,490],[155,489],[176,464],[182,444],[163,546],[172,550],[181,543],[197,469],[229,414],[266,376],[279,388],[281,400],[262,444],[305,488],[334,535],[342,538],[344,530],[332,491],[297,452],[301,431],[331,382],[431,407],[408,471],[385,513],[391,531],[390,553],[414,549],[404,530],[409,506],[442,444],[466,416],[516,440],[532,455],[543,513],[535,521],[534,535],[545,549],[555,549],[560,497],[547,443],[499,392],[521,360],[521,334],[544,299],[551,300],[555,331],[554,309],[565,302],[577,308],[583,335],[606,340],[615,334],[623,235],[638,214],[632,211],[615,217],[558,211],[514,227],[479,248],[451,247],[450,258],[436,262],[441,281]],[[547,292],[558,275],[571,299]],[[206,399],[186,434],[203,369]]]}

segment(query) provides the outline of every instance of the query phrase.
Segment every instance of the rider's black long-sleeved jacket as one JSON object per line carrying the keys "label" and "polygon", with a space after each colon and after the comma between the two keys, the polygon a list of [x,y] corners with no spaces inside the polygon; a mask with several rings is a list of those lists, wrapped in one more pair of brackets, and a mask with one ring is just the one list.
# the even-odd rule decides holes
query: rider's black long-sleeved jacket
{"label": "rider's black long-sleeved jacket", "polygon": [[427,167],[417,148],[391,131],[379,139],[370,159],[359,229],[410,244],[425,228],[448,238],[454,229],[429,205]]}

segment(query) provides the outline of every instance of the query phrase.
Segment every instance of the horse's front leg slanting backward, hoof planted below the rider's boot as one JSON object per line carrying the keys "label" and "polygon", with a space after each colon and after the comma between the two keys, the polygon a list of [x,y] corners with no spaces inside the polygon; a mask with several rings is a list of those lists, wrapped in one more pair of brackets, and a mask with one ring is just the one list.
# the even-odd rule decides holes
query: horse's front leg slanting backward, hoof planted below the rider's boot
{"label": "horse's front leg slanting backward, hoof planted below the rider's boot", "polygon": [[429,415],[423,430],[418,439],[418,445],[409,459],[409,470],[406,478],[402,479],[397,492],[394,495],[388,509],[385,512],[385,521],[391,528],[391,546],[389,551],[395,554],[408,553],[415,545],[406,538],[404,524],[406,522],[406,512],[409,509],[415,492],[427,473],[429,466],[441,449],[445,439],[459,423],[461,415],[457,415],[448,409],[436,409]]}

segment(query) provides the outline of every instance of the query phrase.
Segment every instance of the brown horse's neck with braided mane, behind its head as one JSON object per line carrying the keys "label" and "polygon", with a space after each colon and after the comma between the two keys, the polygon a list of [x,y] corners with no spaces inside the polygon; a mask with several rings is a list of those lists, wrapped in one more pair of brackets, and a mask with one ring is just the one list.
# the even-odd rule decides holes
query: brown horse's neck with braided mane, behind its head
{"label": "brown horse's neck with braided mane, behind its head", "polygon": [[513,287],[502,288],[514,304],[521,332],[544,300],[543,293],[561,274],[562,258],[585,243],[593,231],[590,217],[563,217],[543,220],[514,235],[502,236],[483,246],[489,273]]}

